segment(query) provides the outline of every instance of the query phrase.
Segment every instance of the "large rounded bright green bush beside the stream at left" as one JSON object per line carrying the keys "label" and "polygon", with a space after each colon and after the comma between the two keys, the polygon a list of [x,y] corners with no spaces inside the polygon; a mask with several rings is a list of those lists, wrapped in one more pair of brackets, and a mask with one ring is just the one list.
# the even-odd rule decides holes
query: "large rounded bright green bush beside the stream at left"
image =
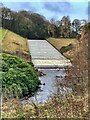
{"label": "large rounded bright green bush beside the stream at left", "polygon": [[9,54],[2,54],[0,57],[0,80],[4,99],[31,95],[37,90],[40,81],[30,64]]}

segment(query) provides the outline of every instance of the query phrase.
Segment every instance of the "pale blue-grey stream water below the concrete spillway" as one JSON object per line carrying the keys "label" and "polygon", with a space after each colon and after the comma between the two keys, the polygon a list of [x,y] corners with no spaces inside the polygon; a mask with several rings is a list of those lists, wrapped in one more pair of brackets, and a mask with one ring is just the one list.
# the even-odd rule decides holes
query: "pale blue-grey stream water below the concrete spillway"
{"label": "pale blue-grey stream water below the concrete spillway", "polygon": [[[39,77],[42,85],[41,88],[35,93],[33,97],[29,97],[26,100],[23,100],[22,103],[27,104],[34,101],[36,104],[45,103],[48,101],[49,97],[57,93],[57,80],[62,81],[65,77],[64,69],[39,69],[45,75]],[[58,76],[59,78],[56,78]],[[66,91],[67,92],[67,91]],[[65,91],[61,90],[62,94],[65,94]]]}

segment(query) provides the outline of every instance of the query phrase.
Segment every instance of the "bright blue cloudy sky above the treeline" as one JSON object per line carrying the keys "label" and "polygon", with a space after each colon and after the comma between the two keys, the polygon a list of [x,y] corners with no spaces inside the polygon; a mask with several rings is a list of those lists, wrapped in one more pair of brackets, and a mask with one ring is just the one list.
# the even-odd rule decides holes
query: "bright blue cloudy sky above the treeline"
{"label": "bright blue cloudy sky above the treeline", "polygon": [[86,19],[88,20],[88,0],[2,0],[3,5],[13,11],[27,10],[39,13],[46,19],[60,20],[63,16],[70,16],[70,19]]}

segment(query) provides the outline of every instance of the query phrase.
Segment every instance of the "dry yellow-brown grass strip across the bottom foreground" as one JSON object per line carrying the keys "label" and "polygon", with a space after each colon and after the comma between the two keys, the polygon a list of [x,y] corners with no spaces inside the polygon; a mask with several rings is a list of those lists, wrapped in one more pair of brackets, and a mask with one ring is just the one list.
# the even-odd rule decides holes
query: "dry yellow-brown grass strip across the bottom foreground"
{"label": "dry yellow-brown grass strip across the bottom foreground", "polygon": [[[22,105],[19,100],[9,100],[3,103],[3,118],[83,118],[88,111],[88,96],[73,95],[60,98],[53,97],[50,102],[41,105],[30,103]],[[7,114],[8,113],[8,114]]]}

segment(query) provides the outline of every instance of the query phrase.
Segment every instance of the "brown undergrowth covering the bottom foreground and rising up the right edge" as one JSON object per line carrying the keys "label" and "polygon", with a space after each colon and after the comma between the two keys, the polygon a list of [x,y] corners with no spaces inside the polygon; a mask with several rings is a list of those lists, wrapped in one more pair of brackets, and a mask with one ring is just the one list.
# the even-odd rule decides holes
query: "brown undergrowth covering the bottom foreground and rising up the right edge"
{"label": "brown undergrowth covering the bottom foreground and rising up the right edge", "polygon": [[[89,29],[88,29],[89,28]],[[3,117],[5,118],[64,118],[64,119],[90,119],[89,102],[88,102],[88,32],[90,32],[90,25],[84,27],[80,39],[80,51],[75,56],[72,67],[67,71],[65,77],[66,84],[64,87],[72,86],[73,94],[67,96],[60,96],[60,91],[49,102],[42,105],[21,106],[18,100],[9,101],[3,105]],[[81,60],[81,61],[80,61]],[[63,88],[62,85],[62,88]],[[58,83],[61,88],[61,84]],[[60,89],[61,90],[61,89]],[[7,109],[9,114],[5,111],[6,106],[12,106]],[[53,108],[53,109],[52,109]]]}

